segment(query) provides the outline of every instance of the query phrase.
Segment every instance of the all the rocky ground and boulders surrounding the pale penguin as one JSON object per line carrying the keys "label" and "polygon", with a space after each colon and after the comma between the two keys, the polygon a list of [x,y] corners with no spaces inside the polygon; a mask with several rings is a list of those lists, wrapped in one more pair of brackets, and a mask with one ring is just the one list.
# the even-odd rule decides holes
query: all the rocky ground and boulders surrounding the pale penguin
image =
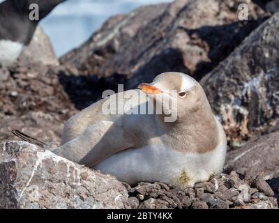
{"label": "all the rocky ground and boulders surrounding the pale penguin", "polygon": [[[248,5],[248,21],[238,19],[239,3]],[[224,174],[193,189],[160,183],[131,188],[36,146],[3,143],[0,207],[278,208],[278,6],[277,0],[144,6],[112,17],[59,60],[37,29],[19,61],[0,68],[0,142],[18,140],[10,132],[17,129],[54,147],[63,123],[105,89],[131,89],[172,70],[204,87],[227,134],[227,163]],[[62,168],[54,174],[57,165]]]}

